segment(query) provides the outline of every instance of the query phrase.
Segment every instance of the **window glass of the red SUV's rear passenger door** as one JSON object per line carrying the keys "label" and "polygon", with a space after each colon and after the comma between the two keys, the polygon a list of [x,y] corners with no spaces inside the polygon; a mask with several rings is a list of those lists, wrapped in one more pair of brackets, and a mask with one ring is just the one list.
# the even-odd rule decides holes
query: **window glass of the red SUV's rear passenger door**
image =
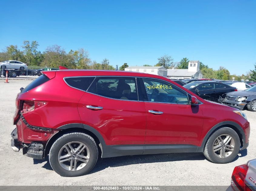
{"label": "window glass of the red SUV's rear passenger door", "polygon": [[[92,92],[90,89],[95,89]],[[138,100],[136,78],[130,77],[99,77],[96,87],[88,91],[104,97],[120,100]]]}

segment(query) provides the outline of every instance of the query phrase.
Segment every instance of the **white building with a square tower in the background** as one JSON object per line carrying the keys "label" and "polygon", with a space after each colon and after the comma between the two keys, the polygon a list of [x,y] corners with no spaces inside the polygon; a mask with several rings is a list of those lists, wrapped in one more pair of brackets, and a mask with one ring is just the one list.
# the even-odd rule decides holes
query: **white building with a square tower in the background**
{"label": "white building with a square tower in the background", "polygon": [[199,60],[191,60],[188,62],[188,69],[168,69],[167,77],[168,78],[185,78],[185,79],[195,79],[203,78],[201,73]]}

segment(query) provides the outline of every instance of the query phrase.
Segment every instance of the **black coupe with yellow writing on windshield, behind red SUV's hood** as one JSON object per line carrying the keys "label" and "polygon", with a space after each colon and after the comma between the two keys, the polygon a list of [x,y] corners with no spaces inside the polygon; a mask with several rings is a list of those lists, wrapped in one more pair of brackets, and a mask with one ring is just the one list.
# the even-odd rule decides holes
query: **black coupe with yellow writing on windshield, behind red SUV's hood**
{"label": "black coupe with yellow writing on windshield, behind red SUV's hood", "polygon": [[237,91],[234,87],[214,81],[194,81],[184,85],[183,87],[205,100],[215,102],[218,102],[218,99],[222,97],[223,94]]}

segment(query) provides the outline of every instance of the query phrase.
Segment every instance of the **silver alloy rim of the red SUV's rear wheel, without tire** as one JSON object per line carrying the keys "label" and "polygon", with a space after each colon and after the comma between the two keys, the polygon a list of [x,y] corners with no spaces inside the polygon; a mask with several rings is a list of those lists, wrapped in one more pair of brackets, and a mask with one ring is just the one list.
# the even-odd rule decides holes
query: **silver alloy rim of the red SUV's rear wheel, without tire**
{"label": "silver alloy rim of the red SUV's rear wheel, without tire", "polygon": [[88,147],[78,141],[65,144],[58,153],[58,162],[62,168],[69,171],[81,170],[90,159]]}

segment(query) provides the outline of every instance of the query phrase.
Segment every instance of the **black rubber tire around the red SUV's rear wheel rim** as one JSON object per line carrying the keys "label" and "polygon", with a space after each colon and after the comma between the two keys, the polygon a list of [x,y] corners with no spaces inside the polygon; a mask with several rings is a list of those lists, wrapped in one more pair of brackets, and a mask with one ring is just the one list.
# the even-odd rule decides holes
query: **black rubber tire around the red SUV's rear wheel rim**
{"label": "black rubber tire around the red SUV's rear wheel rim", "polygon": [[[89,149],[90,157],[89,157],[88,163],[80,170],[76,170],[76,171],[66,170],[60,165],[58,161],[59,152],[64,147],[64,145],[69,142],[81,142],[85,144]],[[52,169],[62,177],[77,177],[77,176],[85,175],[91,171],[91,169],[95,166],[97,160],[98,160],[98,147],[96,145],[95,140],[90,135],[87,135],[81,132],[71,132],[71,133],[62,135],[53,143],[49,151],[49,162],[52,166]]]}

